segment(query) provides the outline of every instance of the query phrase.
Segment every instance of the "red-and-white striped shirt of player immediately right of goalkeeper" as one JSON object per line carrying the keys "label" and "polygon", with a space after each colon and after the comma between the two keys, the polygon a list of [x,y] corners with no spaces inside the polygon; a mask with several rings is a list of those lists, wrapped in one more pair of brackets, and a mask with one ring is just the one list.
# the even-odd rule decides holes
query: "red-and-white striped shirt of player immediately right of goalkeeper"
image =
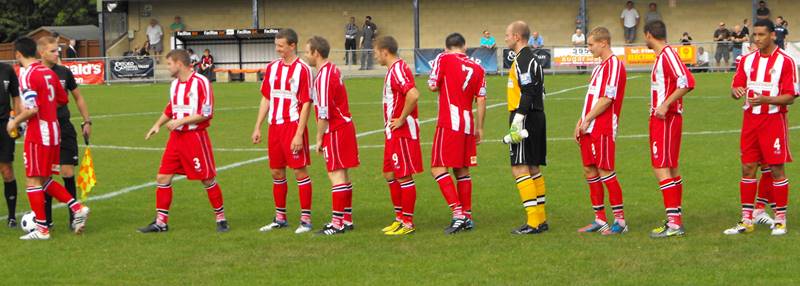
{"label": "red-and-white striped shirt of player immediately right of goalkeeper", "polygon": [[592,111],[601,97],[611,99],[611,105],[589,123],[587,133],[617,136],[622,100],[625,97],[626,77],[625,65],[615,55],[611,55],[594,68],[589,89],[586,91],[586,101],[583,103],[581,121],[586,120],[586,115]]}

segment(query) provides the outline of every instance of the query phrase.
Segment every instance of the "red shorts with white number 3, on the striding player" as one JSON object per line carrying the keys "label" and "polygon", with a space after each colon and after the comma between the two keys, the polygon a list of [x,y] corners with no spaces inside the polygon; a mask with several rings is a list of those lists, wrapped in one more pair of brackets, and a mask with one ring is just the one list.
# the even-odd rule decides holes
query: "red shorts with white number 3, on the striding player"
{"label": "red shorts with white number 3, on the striding player", "polygon": [[208,180],[217,176],[214,151],[206,130],[172,131],[161,157],[159,174],[186,175],[189,180]]}

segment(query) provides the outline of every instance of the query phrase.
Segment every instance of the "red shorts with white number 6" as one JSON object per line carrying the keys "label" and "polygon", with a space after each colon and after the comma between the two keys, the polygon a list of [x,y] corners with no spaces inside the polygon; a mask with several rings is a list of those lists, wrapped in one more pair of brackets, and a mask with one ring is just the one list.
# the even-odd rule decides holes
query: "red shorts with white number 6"
{"label": "red shorts with white number 6", "polygon": [[681,152],[683,117],[670,113],[666,118],[650,116],[650,159],[653,168],[677,168]]}

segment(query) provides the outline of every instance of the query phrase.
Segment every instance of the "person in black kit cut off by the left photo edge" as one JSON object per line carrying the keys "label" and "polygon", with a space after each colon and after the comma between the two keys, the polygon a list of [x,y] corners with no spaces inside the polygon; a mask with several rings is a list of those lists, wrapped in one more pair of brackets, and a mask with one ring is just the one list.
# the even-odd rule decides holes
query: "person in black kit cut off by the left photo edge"
{"label": "person in black kit cut off by the left photo edge", "polygon": [[[12,110],[20,111],[19,80],[14,68],[0,63],[0,124],[8,124]],[[17,134],[19,137],[19,134]],[[8,131],[0,131],[0,175],[3,176],[8,227],[17,227],[17,180],[14,178],[14,140]]]}

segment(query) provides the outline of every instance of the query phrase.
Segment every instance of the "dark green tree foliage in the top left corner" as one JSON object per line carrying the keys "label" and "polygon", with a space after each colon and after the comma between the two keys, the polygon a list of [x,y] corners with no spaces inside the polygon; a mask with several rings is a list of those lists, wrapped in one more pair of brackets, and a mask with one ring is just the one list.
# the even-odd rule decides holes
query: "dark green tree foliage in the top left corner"
{"label": "dark green tree foliage in the top left corner", "polygon": [[41,26],[97,25],[98,0],[0,0],[0,42]]}

